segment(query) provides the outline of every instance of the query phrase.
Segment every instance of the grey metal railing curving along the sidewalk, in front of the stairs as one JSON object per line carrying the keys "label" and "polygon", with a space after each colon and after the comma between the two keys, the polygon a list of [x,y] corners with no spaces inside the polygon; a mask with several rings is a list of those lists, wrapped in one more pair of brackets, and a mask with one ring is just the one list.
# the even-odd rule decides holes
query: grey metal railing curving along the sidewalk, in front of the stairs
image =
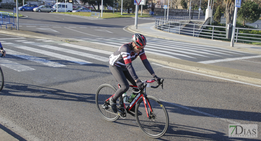
{"label": "grey metal railing curving along the sidewalk, in front of the stairs", "polygon": [[[159,17],[155,19],[155,28],[176,34],[187,34],[195,37],[203,37],[209,39],[226,39],[226,28],[222,26],[209,26],[203,24],[192,24],[188,23],[189,19],[184,17],[173,17],[175,19],[171,19],[171,17]],[[189,20],[189,21],[188,21]],[[190,25],[189,27],[185,27],[186,25]],[[184,28],[185,27],[185,28]],[[247,28],[235,28],[235,42],[260,42],[261,43],[261,30],[260,29],[247,29]],[[242,31],[244,30],[244,31]],[[251,33],[240,33],[241,32],[259,32],[258,34]]]}

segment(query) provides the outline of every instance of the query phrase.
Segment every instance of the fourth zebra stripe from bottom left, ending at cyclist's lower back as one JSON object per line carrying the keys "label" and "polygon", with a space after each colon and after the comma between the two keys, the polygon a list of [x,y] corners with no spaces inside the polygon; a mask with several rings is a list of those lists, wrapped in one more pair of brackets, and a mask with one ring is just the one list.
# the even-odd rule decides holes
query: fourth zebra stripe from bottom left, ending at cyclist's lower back
{"label": "fourth zebra stripe from bottom left, ending at cyclist's lower back", "polygon": [[72,54],[76,54],[76,55],[80,55],[80,56],[84,56],[84,57],[100,60],[100,61],[103,61],[103,62],[109,62],[109,57],[106,58],[106,57],[102,57],[102,56],[98,56],[98,55],[94,55],[94,54],[89,54],[89,53],[85,53],[85,52],[69,50],[69,49],[66,49],[66,48],[50,46],[50,45],[44,45],[44,44],[40,44],[40,43],[37,43],[37,42],[23,42],[23,43],[30,44],[30,45],[35,45],[35,46],[40,46],[40,47],[45,47],[45,48],[49,48],[49,49],[52,49],[52,50],[68,52],[68,53],[72,53]]}

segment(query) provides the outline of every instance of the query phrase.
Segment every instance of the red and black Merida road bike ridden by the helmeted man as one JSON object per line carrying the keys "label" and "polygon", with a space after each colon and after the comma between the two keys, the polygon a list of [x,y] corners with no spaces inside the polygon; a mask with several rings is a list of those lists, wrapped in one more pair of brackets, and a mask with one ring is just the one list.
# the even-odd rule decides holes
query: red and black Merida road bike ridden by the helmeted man
{"label": "red and black Merida road bike ridden by the helmeted man", "polygon": [[[161,79],[161,85],[163,89],[163,81]],[[112,97],[116,89],[110,84],[102,84],[95,96],[96,106],[99,113],[108,121],[116,121],[118,118],[126,118],[127,114],[134,116],[141,130],[152,138],[162,137],[169,126],[169,116],[164,105],[154,96],[146,94],[146,87],[149,87],[150,83],[155,82],[155,79],[143,80],[144,89],[139,91],[133,91],[136,93],[134,100],[126,106],[127,103],[123,102],[122,96],[117,99],[117,113],[114,113],[110,109],[110,97]],[[157,86],[151,86],[151,88],[158,88]],[[118,84],[119,88],[120,85]],[[130,88],[137,88],[137,86],[130,85]],[[136,104],[137,103],[137,104]],[[136,104],[136,106],[135,106]],[[130,110],[135,107],[135,114]],[[138,115],[138,111],[144,112],[142,115]],[[138,116],[135,116],[138,115]]]}

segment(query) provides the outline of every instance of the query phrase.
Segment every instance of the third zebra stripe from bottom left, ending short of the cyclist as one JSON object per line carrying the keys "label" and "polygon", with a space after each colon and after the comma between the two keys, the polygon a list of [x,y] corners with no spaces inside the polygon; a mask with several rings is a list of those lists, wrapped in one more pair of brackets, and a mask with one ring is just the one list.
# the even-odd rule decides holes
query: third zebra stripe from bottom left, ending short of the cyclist
{"label": "third zebra stripe from bottom left, ending short of the cyclist", "polygon": [[49,52],[49,51],[45,51],[45,50],[39,50],[39,49],[32,48],[32,47],[22,46],[22,45],[13,44],[13,43],[3,43],[3,44],[12,46],[12,47],[17,47],[17,48],[20,48],[23,50],[28,50],[28,51],[37,52],[40,54],[45,54],[47,56],[52,56],[52,57],[56,57],[56,58],[63,59],[63,60],[68,60],[70,62],[74,62],[77,64],[91,64],[91,62],[88,62],[85,60],[81,60],[81,59],[77,59],[77,58],[73,58],[73,57],[69,57],[69,56],[65,56],[65,55],[61,55],[58,53],[53,53],[53,52]]}

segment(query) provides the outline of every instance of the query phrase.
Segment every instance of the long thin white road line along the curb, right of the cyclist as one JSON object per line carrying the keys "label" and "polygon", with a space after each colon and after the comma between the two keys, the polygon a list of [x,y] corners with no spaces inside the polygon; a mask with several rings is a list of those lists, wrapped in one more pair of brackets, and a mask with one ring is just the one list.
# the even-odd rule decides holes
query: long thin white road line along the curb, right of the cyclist
{"label": "long thin white road line along the curb, right of the cyclist", "polygon": [[157,64],[157,63],[151,63],[151,64],[155,64],[155,65],[162,66],[162,67],[164,67],[164,68],[173,69],[173,70],[179,70],[179,71],[184,71],[184,72],[188,72],[188,73],[194,73],[194,74],[197,74],[197,75],[203,75],[203,76],[213,77],[213,78],[217,78],[217,79],[222,79],[222,80],[237,82],[237,83],[241,83],[241,84],[246,84],[246,85],[252,85],[252,86],[256,86],[256,87],[261,87],[261,85],[250,84],[250,83],[245,83],[245,82],[236,81],[236,80],[232,80],[232,79],[226,79],[226,78],[222,78],[222,77],[216,77],[216,76],[211,76],[211,75],[205,75],[205,74],[202,74],[202,73],[197,73],[197,72],[192,72],[192,71],[186,71],[186,70],[171,68],[171,67],[164,66],[164,65],[160,65],[160,64]]}

